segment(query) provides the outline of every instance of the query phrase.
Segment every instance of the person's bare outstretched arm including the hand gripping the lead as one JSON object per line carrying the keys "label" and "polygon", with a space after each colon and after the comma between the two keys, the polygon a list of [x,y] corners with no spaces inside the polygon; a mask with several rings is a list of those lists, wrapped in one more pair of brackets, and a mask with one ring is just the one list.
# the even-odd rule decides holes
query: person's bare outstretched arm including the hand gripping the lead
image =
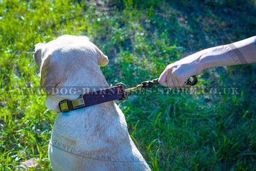
{"label": "person's bare outstretched arm including the hand gripping the lead", "polygon": [[193,75],[212,67],[256,62],[256,36],[232,44],[208,48],[169,64],[158,82],[169,88],[182,88]]}

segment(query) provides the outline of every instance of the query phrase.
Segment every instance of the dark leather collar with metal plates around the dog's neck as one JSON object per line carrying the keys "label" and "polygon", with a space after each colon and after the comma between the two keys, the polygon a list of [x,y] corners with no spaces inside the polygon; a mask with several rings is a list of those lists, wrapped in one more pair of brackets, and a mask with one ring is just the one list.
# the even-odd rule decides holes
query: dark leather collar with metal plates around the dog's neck
{"label": "dark leather collar with metal plates around the dog's neck", "polygon": [[127,94],[124,92],[125,88],[125,84],[118,83],[115,87],[83,94],[74,100],[61,100],[59,102],[60,112],[69,112],[113,100],[125,100],[127,98]]}

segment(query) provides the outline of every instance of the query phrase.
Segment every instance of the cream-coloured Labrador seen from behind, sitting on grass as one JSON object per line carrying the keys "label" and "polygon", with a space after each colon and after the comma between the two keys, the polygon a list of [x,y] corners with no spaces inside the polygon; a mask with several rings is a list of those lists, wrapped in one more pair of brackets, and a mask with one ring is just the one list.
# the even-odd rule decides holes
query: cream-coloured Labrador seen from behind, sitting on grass
{"label": "cream-coloured Labrador seen from behind, sitting on grass", "polygon": [[[46,105],[51,110],[59,111],[63,99],[77,99],[88,93],[82,87],[94,91],[108,87],[98,67],[105,66],[108,57],[87,37],[64,35],[47,44],[36,44],[34,60],[40,68],[40,85],[48,93]],[[72,94],[54,92],[67,87],[81,89]],[[113,101],[59,113],[49,157],[54,170],[151,170]]]}

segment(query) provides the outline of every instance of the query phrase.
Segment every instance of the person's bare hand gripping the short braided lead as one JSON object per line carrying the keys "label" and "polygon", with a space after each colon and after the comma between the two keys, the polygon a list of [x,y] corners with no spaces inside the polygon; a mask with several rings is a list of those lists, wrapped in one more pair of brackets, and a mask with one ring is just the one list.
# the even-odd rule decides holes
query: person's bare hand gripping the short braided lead
{"label": "person's bare hand gripping the short braided lead", "polygon": [[183,88],[184,83],[193,75],[203,71],[201,57],[205,52],[200,51],[179,61],[169,64],[159,77],[158,82],[170,89]]}

